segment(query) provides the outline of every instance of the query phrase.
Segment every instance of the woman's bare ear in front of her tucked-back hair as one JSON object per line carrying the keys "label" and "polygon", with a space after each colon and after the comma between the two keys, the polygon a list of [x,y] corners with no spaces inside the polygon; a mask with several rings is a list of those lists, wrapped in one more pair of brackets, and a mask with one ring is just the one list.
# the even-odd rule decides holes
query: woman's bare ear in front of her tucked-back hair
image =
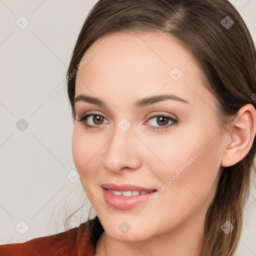
{"label": "woman's bare ear in front of her tucked-back hair", "polygon": [[256,133],[256,110],[252,104],[242,106],[231,123],[221,166],[232,166],[249,152]]}

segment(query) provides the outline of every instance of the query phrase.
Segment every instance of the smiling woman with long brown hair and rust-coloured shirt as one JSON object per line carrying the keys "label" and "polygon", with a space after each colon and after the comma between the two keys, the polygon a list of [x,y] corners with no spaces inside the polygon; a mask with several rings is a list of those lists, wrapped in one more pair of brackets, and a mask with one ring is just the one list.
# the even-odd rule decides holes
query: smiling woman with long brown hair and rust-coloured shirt
{"label": "smiling woman with long brown hair and rust-coloured shirt", "polygon": [[234,255],[255,170],[255,71],[227,0],[99,0],[66,78],[97,216],[0,254]]}

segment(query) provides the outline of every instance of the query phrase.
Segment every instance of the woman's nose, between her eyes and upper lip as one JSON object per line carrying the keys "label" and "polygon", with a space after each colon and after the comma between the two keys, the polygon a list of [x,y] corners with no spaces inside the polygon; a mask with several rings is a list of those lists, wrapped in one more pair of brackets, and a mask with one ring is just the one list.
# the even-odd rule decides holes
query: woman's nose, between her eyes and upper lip
{"label": "woman's nose, between her eyes and upper lip", "polygon": [[141,164],[138,143],[141,141],[131,127],[123,131],[116,126],[114,135],[104,147],[103,167],[114,174],[122,173],[125,169],[138,169]]}

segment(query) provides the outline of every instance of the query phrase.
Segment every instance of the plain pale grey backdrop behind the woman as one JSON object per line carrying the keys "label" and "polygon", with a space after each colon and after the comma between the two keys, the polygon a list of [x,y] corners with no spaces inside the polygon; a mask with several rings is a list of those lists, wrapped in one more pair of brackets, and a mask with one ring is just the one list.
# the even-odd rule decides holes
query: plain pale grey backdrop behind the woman
{"label": "plain pale grey backdrop behind the woman", "polygon": [[[64,231],[61,215],[82,204],[66,87],[51,100],[46,95],[65,78],[78,33],[95,3],[0,0],[0,244],[53,234],[55,222],[57,232]],[[255,42],[256,0],[231,3]],[[256,255],[255,194],[252,183],[237,256]],[[72,227],[79,221],[74,219]]]}

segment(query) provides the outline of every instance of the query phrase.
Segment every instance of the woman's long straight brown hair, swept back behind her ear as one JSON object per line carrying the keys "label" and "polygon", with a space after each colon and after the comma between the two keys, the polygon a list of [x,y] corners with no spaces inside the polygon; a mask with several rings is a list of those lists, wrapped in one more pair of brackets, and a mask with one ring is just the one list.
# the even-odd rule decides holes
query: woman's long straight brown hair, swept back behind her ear
{"label": "woman's long straight brown hair, swept back behind her ear", "polygon": [[[243,105],[252,104],[256,108],[252,97],[256,91],[255,46],[242,17],[230,2],[99,0],[84,21],[66,74],[73,120],[76,75],[70,78],[70,74],[95,40],[120,30],[164,32],[188,49],[205,76],[205,86],[218,101],[217,115],[223,128]],[[250,168],[255,170],[254,156],[255,137],[242,160],[223,167],[215,197],[206,213],[200,256],[234,254],[249,193]],[[220,229],[225,221],[234,226],[229,234]],[[88,220],[88,224],[95,245],[103,227],[97,216]]]}

